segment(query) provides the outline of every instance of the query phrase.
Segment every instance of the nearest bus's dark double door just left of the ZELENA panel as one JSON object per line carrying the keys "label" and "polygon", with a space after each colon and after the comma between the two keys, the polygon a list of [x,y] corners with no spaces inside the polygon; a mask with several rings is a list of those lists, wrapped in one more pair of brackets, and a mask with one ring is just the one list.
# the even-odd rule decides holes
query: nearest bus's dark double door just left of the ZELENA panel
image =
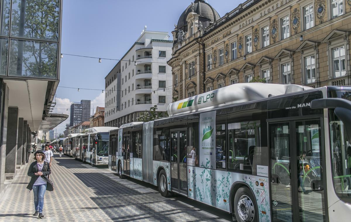
{"label": "nearest bus's dark double door just left of the ZELENA panel", "polygon": [[171,188],[187,195],[186,129],[171,131]]}

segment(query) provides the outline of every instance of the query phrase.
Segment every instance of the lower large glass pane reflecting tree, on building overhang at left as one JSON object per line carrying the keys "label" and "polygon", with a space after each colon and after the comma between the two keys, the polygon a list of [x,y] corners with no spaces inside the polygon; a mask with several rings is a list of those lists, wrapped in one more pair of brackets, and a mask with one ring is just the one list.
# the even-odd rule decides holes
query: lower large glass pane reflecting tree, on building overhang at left
{"label": "lower large glass pane reflecting tree, on building overhang at left", "polygon": [[9,76],[57,78],[57,43],[11,39]]}

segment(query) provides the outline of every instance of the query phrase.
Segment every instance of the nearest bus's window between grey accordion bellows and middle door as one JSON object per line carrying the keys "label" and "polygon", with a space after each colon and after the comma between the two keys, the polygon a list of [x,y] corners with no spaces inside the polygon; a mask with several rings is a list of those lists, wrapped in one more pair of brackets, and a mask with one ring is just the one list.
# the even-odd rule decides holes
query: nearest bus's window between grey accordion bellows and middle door
{"label": "nearest bus's window between grey accordion bellows and middle door", "polygon": [[154,129],[153,159],[155,161],[170,161],[170,130]]}

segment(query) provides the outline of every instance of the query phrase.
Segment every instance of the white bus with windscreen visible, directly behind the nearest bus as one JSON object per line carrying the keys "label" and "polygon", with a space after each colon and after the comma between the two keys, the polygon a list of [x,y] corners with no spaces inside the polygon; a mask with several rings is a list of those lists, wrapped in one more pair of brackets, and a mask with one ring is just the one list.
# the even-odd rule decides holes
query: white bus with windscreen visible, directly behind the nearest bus
{"label": "white bus with windscreen visible, directly behind the nearest bus", "polygon": [[108,136],[115,127],[93,127],[72,137],[73,157],[95,165],[108,165]]}

